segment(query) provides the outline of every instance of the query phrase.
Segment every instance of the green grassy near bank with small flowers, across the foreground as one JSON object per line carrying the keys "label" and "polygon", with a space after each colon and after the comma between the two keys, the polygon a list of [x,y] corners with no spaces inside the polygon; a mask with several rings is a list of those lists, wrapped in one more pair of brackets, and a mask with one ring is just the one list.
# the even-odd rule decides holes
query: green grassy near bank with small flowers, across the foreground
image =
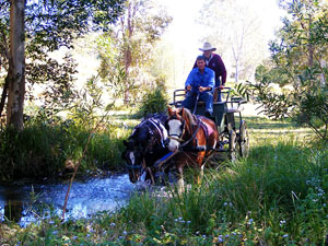
{"label": "green grassy near bank with small flowers, across the foreground", "polygon": [[[309,129],[246,118],[247,160],[206,171],[178,196],[138,192],[115,213],[5,229],[0,243],[23,245],[325,245],[328,150]],[[219,164],[218,164],[219,165]],[[187,183],[192,184],[191,178]],[[0,227],[0,232],[1,232]],[[15,232],[16,236],[10,236]],[[1,238],[1,235],[0,235]]]}

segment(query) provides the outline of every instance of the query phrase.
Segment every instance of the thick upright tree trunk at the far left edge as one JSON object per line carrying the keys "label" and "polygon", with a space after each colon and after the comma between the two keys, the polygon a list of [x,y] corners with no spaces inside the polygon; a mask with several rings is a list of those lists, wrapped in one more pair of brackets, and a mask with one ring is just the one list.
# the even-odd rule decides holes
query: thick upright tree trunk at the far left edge
{"label": "thick upright tree trunk at the far left edge", "polygon": [[10,55],[7,124],[23,130],[25,95],[25,0],[11,0],[10,9]]}

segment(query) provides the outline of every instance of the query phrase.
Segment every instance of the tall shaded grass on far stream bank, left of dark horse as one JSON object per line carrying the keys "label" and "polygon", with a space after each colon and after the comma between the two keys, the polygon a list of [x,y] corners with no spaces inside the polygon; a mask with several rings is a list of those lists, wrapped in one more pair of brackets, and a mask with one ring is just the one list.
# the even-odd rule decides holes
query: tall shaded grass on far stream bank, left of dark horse
{"label": "tall shaded grass on far stream bank, left of dark horse", "polygon": [[[31,121],[22,132],[0,131],[0,179],[43,178],[67,171],[66,163],[77,162],[86,148],[93,129],[74,121]],[[92,136],[79,171],[121,169],[122,139],[131,127],[106,124]]]}

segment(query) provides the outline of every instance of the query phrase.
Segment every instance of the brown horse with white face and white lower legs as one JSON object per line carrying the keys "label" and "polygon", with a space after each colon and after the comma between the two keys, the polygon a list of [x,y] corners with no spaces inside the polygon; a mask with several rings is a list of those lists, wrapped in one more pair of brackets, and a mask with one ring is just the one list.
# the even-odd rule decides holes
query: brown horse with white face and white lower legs
{"label": "brown horse with white face and white lower legs", "polygon": [[219,132],[215,122],[204,116],[196,116],[187,108],[173,110],[168,107],[168,119],[165,124],[168,131],[169,151],[179,150],[176,156],[178,171],[178,192],[184,191],[185,165],[197,167],[197,184],[203,175],[203,161],[209,157],[219,144]]}

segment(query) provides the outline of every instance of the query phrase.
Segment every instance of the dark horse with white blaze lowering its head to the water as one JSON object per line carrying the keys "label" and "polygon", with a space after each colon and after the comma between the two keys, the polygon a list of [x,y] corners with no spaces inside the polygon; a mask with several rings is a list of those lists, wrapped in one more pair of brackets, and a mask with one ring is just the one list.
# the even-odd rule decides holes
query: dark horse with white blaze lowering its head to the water
{"label": "dark horse with white blaze lowering its head to the water", "polygon": [[165,148],[167,130],[164,124],[166,119],[167,115],[165,114],[148,116],[134,127],[128,141],[124,141],[126,150],[121,157],[127,162],[131,183],[140,180],[144,171],[145,180],[155,183],[154,163],[169,152]]}

